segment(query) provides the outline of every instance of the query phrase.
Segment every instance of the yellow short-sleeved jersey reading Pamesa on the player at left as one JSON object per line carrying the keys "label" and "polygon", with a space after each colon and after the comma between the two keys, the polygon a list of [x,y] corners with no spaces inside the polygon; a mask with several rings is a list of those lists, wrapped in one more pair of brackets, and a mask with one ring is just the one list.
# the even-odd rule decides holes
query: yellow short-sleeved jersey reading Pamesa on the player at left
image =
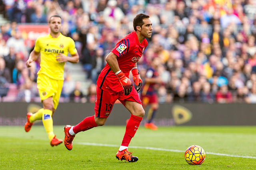
{"label": "yellow short-sleeved jersey reading Pamesa on the player at left", "polygon": [[77,53],[74,40],[61,33],[57,38],[53,38],[50,34],[38,37],[34,50],[40,52],[41,57],[40,70],[37,74],[46,74],[54,80],[64,80],[65,63],[58,63],[56,60],[58,53],[66,56],[68,52],[71,55]]}

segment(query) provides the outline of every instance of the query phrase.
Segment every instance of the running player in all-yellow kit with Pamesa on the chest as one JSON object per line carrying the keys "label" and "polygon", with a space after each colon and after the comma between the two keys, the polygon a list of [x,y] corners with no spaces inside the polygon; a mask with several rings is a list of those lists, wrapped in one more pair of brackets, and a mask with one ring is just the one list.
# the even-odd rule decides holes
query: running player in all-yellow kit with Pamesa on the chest
{"label": "running player in all-yellow kit with Pamesa on the chest", "polygon": [[[60,16],[50,17],[48,26],[50,27],[50,34],[36,40],[34,50],[26,61],[26,66],[30,67],[30,64],[36,61],[40,54],[37,88],[43,108],[34,114],[27,113],[27,122],[24,127],[25,131],[28,132],[34,121],[42,119],[50,145],[53,147],[62,143],[62,140],[57,139],[53,133],[52,115],[59,103],[64,80],[64,64],[66,61],[78,63],[79,55],[74,40],[60,33]],[[71,57],[68,56],[68,53],[71,54]]]}

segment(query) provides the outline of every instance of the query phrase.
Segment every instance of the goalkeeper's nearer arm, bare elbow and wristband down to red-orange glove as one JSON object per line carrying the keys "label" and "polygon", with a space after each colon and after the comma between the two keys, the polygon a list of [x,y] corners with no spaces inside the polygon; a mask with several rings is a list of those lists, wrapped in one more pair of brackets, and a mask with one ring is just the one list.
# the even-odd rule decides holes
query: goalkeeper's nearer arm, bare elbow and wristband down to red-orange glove
{"label": "goalkeeper's nearer arm, bare elbow and wristband down to red-orange glove", "polygon": [[111,70],[116,73],[116,76],[118,77],[120,83],[122,84],[122,87],[124,89],[124,95],[129,95],[132,91],[132,82],[129,78],[127,78],[124,73],[120,70],[118,61],[117,61],[117,55],[110,52],[108,56],[106,57],[106,62],[110,66]]}

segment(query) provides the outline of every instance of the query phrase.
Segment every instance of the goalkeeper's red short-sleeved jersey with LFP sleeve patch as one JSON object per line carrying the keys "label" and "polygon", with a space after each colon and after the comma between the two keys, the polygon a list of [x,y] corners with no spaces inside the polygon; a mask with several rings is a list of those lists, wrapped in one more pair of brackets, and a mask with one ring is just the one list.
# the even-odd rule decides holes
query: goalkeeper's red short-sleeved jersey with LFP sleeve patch
{"label": "goalkeeper's red short-sleeved jersey with LFP sleeve patch", "polygon": [[[111,52],[118,56],[117,61],[119,68],[124,72],[126,77],[129,77],[130,70],[132,70],[135,63],[140,60],[147,45],[148,41],[146,39],[144,39],[142,43],[139,42],[135,31],[129,33],[116,43],[116,47]],[[100,72],[97,86],[108,92],[120,92],[123,90],[121,83],[108,63]]]}

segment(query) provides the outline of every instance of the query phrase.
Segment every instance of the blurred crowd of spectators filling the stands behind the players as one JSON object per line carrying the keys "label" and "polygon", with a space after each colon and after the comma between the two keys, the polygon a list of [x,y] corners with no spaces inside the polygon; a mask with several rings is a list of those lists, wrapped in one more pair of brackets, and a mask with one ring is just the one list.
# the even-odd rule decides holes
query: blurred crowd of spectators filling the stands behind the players
{"label": "blurred crowd of spectators filling the stands behind the players", "polygon": [[0,25],[0,98],[14,88],[15,101],[38,96],[39,65],[26,68],[32,49],[18,24],[47,24],[50,16],[62,16],[62,34],[74,39],[84,75],[92,82],[83,94],[84,87],[66,70],[63,101],[94,102],[104,58],[133,31],[136,14],[145,13],[153,33],[138,70],[144,78],[152,59],[160,59],[160,103],[256,103],[254,0],[0,0],[0,9],[10,21]]}

